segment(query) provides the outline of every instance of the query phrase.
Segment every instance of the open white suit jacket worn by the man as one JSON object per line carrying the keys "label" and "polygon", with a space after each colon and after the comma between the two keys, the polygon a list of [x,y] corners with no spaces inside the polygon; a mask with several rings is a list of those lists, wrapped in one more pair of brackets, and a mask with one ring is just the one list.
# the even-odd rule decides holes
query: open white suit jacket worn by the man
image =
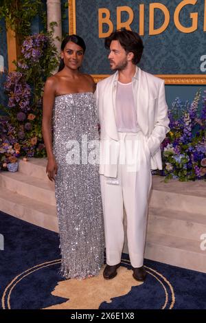
{"label": "open white suit jacket worn by the man", "polygon": [[[115,99],[117,91],[118,71],[98,82],[95,96],[100,120],[100,174],[117,177],[117,159],[119,137],[115,120]],[[146,137],[151,153],[151,169],[162,169],[160,144],[166,133],[170,131],[168,105],[165,101],[164,80],[136,68],[133,77],[133,96],[137,109],[137,123]],[[104,162],[106,149],[116,151],[116,161],[112,164]]]}

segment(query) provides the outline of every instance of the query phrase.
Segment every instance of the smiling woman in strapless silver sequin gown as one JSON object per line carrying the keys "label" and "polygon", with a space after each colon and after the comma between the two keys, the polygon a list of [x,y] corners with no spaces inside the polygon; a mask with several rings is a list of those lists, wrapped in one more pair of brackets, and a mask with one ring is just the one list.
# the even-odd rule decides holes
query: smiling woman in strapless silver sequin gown
{"label": "smiling woman in strapless silver sequin gown", "polygon": [[61,49],[59,71],[45,83],[43,137],[47,175],[55,180],[61,274],[82,279],[98,275],[104,260],[98,147],[91,142],[99,140],[98,117],[93,79],[78,71],[84,41],[67,36]]}

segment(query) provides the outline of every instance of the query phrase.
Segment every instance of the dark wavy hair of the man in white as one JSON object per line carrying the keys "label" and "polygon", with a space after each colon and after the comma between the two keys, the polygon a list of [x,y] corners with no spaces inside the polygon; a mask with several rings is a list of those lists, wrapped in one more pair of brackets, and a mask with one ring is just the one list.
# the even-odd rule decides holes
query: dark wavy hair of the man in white
{"label": "dark wavy hair of the man in white", "polygon": [[141,60],[144,45],[141,37],[137,32],[130,30],[116,30],[110,36],[105,38],[104,46],[106,49],[110,48],[112,41],[119,41],[120,45],[125,49],[126,53],[132,52],[134,54],[133,64],[137,65]]}

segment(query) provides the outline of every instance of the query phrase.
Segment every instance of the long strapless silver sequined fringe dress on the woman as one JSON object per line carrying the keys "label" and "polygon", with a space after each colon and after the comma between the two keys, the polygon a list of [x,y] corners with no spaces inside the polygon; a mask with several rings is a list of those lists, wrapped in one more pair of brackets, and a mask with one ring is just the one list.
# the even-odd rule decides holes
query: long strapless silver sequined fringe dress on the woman
{"label": "long strapless silver sequined fringe dress on the woman", "polygon": [[87,156],[90,161],[96,157],[91,140],[99,140],[93,93],[57,96],[53,111],[53,149],[58,165],[55,193],[61,274],[65,278],[97,275],[103,265],[104,229],[98,163],[87,162]]}

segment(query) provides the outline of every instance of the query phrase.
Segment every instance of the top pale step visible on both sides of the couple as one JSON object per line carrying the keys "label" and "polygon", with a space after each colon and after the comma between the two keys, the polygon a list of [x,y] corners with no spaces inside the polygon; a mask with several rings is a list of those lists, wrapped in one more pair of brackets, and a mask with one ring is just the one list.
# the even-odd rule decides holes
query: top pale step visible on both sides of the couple
{"label": "top pale step visible on both sides of the couple", "polygon": [[[29,158],[28,161],[19,161],[19,172],[48,181],[45,173],[47,159]],[[163,182],[163,177],[152,176],[153,190],[150,197],[150,206],[153,208],[168,208],[183,212],[194,212],[206,215],[206,182],[180,182],[171,180]]]}

